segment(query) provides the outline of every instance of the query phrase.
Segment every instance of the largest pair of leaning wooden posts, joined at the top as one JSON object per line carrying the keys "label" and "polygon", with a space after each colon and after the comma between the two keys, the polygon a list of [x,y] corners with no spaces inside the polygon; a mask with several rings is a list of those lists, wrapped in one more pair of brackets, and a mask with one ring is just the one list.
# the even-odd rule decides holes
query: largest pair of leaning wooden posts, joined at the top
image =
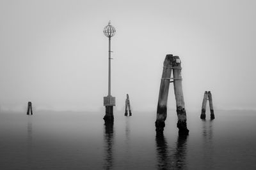
{"label": "largest pair of leaning wooden posts, joined at the top", "polygon": [[[182,77],[181,77],[181,66],[180,59],[178,56],[171,54],[166,55],[164,60],[163,74],[161,78],[161,85],[159,90],[158,104],[157,104],[157,118],[156,118],[156,132],[163,133],[164,120],[166,119],[167,110],[167,99],[170,83],[173,82],[178,122],[177,127],[179,128],[179,134],[187,135],[189,130],[187,129],[187,118],[184,97],[182,92]],[[171,77],[173,69],[173,78]],[[170,81],[173,79],[173,81]]]}

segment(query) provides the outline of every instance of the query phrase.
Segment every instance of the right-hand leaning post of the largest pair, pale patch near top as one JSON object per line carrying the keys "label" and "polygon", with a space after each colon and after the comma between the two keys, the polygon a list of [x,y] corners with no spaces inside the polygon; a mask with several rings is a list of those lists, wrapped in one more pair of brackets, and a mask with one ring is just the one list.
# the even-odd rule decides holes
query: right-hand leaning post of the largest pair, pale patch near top
{"label": "right-hand leaning post of the largest pair, pale patch near top", "polygon": [[187,128],[187,117],[185,110],[184,97],[182,92],[182,77],[181,77],[181,66],[180,66],[179,56],[172,57],[172,67],[173,67],[173,87],[176,99],[176,109],[178,115],[177,127],[179,128],[179,134],[188,135]]}

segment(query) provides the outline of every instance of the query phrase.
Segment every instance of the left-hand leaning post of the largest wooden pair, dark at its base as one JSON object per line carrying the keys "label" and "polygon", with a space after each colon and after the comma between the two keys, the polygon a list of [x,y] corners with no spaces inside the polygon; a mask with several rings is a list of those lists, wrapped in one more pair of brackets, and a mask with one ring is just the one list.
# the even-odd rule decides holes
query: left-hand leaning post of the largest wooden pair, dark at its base
{"label": "left-hand leaning post of the largest wooden pair, dark at its base", "polygon": [[156,115],[156,132],[163,133],[164,131],[164,120],[166,120],[166,110],[167,110],[167,99],[169,93],[169,86],[170,86],[170,78],[172,67],[171,60],[173,55],[168,54],[164,59],[164,67],[163,67],[163,74],[161,78],[160,90],[159,90],[159,97],[157,103],[157,115]]}

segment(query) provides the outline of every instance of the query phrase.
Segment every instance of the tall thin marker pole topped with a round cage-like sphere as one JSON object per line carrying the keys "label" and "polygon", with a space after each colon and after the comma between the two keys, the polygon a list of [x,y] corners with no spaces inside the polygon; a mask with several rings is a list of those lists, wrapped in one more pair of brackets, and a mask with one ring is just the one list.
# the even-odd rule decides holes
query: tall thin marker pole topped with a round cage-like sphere
{"label": "tall thin marker pole topped with a round cage-like sphere", "polygon": [[113,106],[115,106],[115,97],[111,96],[111,37],[115,35],[115,28],[110,25],[110,21],[103,30],[106,37],[108,37],[108,96],[104,97],[104,106],[106,106],[106,115],[104,116],[105,123],[113,124]]}

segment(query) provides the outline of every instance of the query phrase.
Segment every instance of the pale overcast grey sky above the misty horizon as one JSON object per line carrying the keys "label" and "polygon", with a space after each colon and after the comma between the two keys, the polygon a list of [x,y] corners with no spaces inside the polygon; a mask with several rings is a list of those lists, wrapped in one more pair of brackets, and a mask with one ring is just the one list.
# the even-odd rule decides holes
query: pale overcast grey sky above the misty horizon
{"label": "pale overcast grey sky above the misty horizon", "polygon": [[[256,1],[0,1],[0,106],[90,110],[108,95],[122,110],[156,110],[165,55],[182,61],[186,110],[205,90],[216,109],[256,109]],[[173,84],[168,108],[175,108]]]}

